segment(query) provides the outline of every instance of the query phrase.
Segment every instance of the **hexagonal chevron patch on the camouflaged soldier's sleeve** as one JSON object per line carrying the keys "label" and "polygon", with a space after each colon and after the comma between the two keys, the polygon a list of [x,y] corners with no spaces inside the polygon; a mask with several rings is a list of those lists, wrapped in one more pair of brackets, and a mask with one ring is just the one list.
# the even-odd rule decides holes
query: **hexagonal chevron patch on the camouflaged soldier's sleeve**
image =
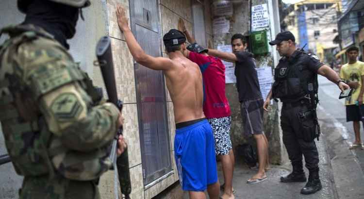
{"label": "hexagonal chevron patch on the camouflaged soldier's sleeve", "polygon": [[63,93],[53,100],[50,109],[58,121],[77,119],[83,107],[74,93]]}

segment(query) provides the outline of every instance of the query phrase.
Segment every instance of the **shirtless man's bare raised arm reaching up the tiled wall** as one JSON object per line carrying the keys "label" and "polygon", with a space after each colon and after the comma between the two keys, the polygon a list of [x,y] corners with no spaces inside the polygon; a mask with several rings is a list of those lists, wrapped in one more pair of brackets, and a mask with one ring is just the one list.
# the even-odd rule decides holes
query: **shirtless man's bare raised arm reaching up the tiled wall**
{"label": "shirtless man's bare raised arm reaching up the tiled wall", "polygon": [[119,4],[116,9],[116,17],[120,31],[124,33],[128,48],[137,63],[153,70],[169,70],[172,68],[173,63],[170,59],[164,57],[153,57],[144,52],[129,28],[125,8],[121,7]]}

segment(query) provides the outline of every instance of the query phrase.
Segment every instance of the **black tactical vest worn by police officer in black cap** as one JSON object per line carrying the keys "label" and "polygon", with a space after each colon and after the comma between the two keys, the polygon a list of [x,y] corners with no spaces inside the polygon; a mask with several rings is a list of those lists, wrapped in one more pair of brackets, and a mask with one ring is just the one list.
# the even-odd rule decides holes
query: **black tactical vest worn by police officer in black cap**
{"label": "black tactical vest worn by police officer in black cap", "polygon": [[309,97],[308,94],[313,97],[318,91],[317,74],[298,61],[299,56],[302,56],[300,53],[306,52],[298,53],[293,59],[283,58],[274,69],[272,95],[282,102],[298,101]]}

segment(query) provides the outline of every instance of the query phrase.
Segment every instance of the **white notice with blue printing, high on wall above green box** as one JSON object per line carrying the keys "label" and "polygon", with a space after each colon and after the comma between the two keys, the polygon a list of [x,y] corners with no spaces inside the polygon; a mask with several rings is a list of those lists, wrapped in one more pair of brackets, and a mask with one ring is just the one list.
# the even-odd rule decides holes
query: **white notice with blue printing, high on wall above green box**
{"label": "white notice with blue printing, high on wall above green box", "polygon": [[257,29],[267,26],[269,26],[268,5],[265,3],[251,6],[252,31],[257,31]]}

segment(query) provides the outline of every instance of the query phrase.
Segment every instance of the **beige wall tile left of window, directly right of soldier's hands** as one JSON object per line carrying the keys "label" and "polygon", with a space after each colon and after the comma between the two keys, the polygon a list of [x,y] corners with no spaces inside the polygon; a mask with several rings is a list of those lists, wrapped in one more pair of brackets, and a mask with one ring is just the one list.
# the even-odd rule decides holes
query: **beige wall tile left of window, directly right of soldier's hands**
{"label": "beige wall tile left of window, directly right of soldier's hands", "polygon": [[123,116],[125,118],[124,137],[128,143],[129,167],[133,167],[142,163],[136,104],[124,104]]}

